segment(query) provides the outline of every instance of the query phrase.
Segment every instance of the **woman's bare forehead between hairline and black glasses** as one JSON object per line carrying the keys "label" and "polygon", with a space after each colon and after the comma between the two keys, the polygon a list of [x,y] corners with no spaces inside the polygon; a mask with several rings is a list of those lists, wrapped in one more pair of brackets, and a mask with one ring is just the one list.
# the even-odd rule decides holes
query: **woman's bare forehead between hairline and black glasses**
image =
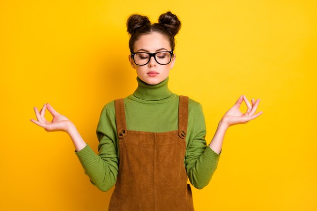
{"label": "woman's bare forehead between hairline and black glasses", "polygon": [[157,32],[144,34],[134,43],[135,52],[139,49],[145,49],[149,52],[154,52],[161,48],[171,51],[171,46],[167,37]]}

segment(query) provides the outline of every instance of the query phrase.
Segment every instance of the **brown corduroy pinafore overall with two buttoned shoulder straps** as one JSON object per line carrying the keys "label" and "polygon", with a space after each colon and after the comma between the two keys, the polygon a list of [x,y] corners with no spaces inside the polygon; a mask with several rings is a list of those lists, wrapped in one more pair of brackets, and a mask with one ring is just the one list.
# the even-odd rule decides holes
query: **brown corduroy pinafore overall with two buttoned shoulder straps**
{"label": "brown corduroy pinafore overall with two buttoned shoulder straps", "polygon": [[179,96],[178,130],[161,133],[128,131],[124,99],[114,104],[120,160],[109,211],[193,211],[184,164],[188,97]]}

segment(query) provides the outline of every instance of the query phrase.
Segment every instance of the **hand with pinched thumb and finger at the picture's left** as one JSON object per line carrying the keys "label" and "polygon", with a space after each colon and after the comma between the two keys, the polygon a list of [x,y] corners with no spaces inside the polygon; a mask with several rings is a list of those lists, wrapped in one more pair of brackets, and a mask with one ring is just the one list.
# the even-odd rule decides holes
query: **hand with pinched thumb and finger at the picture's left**
{"label": "hand with pinched thumb and finger at the picture's left", "polygon": [[[52,121],[47,121],[44,117],[46,108],[53,116]],[[39,112],[37,108],[34,107],[34,111],[37,121],[34,119],[30,119],[30,121],[37,124],[38,126],[42,126],[42,128],[44,128],[44,130],[47,132],[64,131],[68,133],[68,130],[73,125],[73,123],[66,116],[55,111],[49,103],[44,104],[43,108]]]}

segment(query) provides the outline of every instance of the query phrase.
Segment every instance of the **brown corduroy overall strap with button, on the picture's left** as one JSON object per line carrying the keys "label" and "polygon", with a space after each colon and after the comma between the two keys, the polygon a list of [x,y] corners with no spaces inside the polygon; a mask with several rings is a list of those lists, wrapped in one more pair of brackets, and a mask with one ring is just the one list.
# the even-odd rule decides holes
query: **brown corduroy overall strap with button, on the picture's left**
{"label": "brown corduroy overall strap with button, on the picture's left", "polygon": [[120,139],[127,135],[126,113],[124,99],[114,100],[116,131]]}

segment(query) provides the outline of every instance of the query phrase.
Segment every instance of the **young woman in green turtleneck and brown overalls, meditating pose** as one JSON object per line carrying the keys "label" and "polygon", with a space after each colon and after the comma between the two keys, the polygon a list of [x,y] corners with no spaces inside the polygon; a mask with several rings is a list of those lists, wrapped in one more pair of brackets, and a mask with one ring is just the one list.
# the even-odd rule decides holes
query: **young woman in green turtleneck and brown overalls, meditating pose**
{"label": "young woman in green turtleneck and brown overalls, meditating pose", "polygon": [[[218,123],[206,145],[202,106],[168,88],[169,72],[175,64],[174,36],[181,22],[171,12],[151,24],[146,16],[133,14],[127,21],[131,34],[129,61],[136,70],[138,87],[126,98],[107,103],[101,111],[96,134],[98,155],[82,139],[75,125],[47,103],[37,121],[46,131],[64,131],[75,146],[75,154],[90,182],[102,191],[115,185],[109,210],[194,210],[190,183],[197,189],[208,185],[220,157],[226,130],[246,123],[256,113],[242,95]],[[118,85],[120,87],[120,84]],[[248,110],[239,110],[245,101]],[[52,122],[44,117],[46,109]]]}

